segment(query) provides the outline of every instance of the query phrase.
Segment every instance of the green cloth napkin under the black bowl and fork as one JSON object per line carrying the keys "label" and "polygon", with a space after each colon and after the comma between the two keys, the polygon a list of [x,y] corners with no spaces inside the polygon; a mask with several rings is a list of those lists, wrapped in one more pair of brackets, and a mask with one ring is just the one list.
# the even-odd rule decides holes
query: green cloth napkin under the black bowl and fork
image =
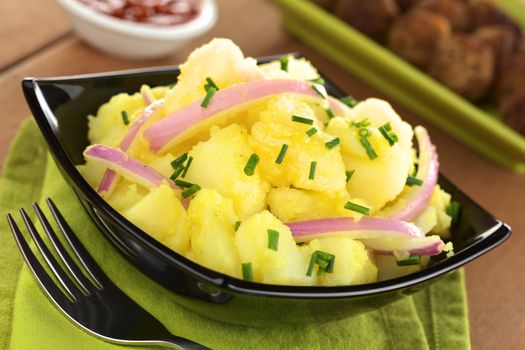
{"label": "green cloth napkin under the black bowl and fork", "polygon": [[[32,120],[24,122],[0,180],[0,349],[113,349],[77,329],[46,299],[3,217],[54,199],[105,272],[177,335],[213,349],[467,349],[463,271],[386,307],[342,320],[247,327],[212,320],[149,280],[109,245],[62,179]],[[15,215],[17,220],[18,214]],[[20,221],[19,221],[20,222]],[[312,318],[313,320],[313,318]]]}

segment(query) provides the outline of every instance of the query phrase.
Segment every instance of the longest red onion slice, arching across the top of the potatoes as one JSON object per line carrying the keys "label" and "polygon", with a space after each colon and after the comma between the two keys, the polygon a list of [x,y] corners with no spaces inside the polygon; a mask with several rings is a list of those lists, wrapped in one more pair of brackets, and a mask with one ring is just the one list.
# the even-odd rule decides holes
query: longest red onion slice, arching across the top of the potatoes
{"label": "longest red onion slice, arching across the top of the potatoes", "polygon": [[[177,136],[220,112],[233,107],[240,107],[256,102],[262,98],[291,93],[321,99],[313,89],[315,84],[300,80],[256,80],[234,85],[217,91],[208,107],[201,107],[202,101],[195,101],[182,107],[144,131],[152,151],[158,152],[176,141]],[[334,104],[335,105],[335,104]],[[342,108],[336,105],[337,111]]]}

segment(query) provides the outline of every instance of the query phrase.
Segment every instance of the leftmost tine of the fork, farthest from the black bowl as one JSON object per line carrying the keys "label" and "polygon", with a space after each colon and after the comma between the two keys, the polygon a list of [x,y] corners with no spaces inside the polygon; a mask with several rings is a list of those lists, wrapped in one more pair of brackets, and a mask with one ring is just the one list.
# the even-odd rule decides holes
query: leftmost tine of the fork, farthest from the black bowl
{"label": "leftmost tine of the fork, farthest from the black bowl", "polygon": [[22,253],[24,260],[33,273],[33,276],[35,276],[36,280],[38,281],[38,284],[40,284],[40,287],[44,290],[49,298],[53,299],[55,303],[61,307],[65,307],[66,305],[70,304],[71,301],[60,290],[60,288],[56,286],[53,279],[49,277],[46,270],[42,267],[42,264],[40,264],[35,254],[33,254],[31,251],[31,248],[29,248],[29,245],[22,235],[22,232],[20,232],[20,229],[18,228],[18,225],[11,214],[7,214],[7,222],[9,223],[9,228],[13,233],[13,237],[15,238],[20,253]]}

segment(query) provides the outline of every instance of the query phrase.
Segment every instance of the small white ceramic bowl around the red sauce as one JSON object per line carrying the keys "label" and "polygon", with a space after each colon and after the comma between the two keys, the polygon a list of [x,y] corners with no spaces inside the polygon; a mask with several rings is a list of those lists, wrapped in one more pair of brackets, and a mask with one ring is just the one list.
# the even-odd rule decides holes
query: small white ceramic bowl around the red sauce
{"label": "small white ceramic bowl around the red sauce", "polygon": [[167,56],[185,42],[206,33],[217,21],[215,0],[202,0],[197,17],[171,27],[114,18],[78,0],[58,0],[58,3],[81,38],[108,54],[133,60]]}

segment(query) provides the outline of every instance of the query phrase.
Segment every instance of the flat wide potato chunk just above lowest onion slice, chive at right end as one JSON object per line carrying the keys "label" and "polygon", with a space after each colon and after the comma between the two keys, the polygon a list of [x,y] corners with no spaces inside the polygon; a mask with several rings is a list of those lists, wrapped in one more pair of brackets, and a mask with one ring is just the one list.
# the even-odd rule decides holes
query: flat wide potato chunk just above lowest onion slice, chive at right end
{"label": "flat wide potato chunk just above lowest onion slice, chive at right end", "polygon": [[350,199],[348,192],[325,193],[296,188],[273,188],[268,194],[272,213],[282,222],[314,220],[333,217],[361,218],[363,215],[345,209],[346,202],[366,206],[359,199]]}

